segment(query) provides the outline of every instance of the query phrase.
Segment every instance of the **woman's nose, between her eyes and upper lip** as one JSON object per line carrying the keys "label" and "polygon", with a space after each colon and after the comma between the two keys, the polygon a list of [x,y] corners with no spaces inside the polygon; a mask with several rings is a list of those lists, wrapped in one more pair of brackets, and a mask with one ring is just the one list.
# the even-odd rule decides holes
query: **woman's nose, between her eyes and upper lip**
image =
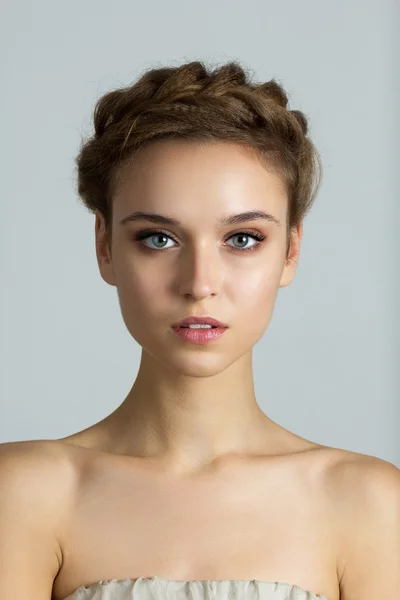
{"label": "woman's nose, between her eyes and upper lip", "polygon": [[181,255],[177,278],[179,293],[201,300],[220,293],[222,284],[221,260],[212,244],[203,242]]}

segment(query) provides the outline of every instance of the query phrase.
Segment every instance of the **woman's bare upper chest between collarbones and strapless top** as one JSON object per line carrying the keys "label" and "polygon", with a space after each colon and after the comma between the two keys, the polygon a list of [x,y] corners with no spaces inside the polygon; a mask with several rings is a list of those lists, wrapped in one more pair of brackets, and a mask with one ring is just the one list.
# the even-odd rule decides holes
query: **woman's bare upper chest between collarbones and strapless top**
{"label": "woman's bare upper chest between collarbones and strapless top", "polygon": [[317,489],[273,469],[191,481],[141,470],[97,473],[75,498],[55,593],[153,575],[326,589],[327,579],[334,585],[335,542]]}

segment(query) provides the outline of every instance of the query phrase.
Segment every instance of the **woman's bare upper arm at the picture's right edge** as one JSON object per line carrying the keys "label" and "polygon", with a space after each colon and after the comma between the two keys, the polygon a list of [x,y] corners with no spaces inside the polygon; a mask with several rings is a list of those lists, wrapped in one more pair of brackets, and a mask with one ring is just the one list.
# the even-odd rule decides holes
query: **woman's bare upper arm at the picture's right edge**
{"label": "woman's bare upper arm at the picture's right edge", "polygon": [[361,471],[359,478],[354,477],[352,491],[343,499],[348,512],[341,552],[340,598],[397,598],[400,597],[400,470],[392,463],[372,458],[364,462]]}

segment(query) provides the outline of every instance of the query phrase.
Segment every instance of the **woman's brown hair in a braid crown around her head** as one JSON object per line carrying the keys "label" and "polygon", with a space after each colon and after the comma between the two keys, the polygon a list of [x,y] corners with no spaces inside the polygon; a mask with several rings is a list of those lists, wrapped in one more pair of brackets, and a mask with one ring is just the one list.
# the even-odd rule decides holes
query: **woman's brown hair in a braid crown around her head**
{"label": "woman's brown hair in a braid crown around her head", "polygon": [[78,194],[105,219],[111,246],[112,197],[125,167],[151,141],[226,140],[242,144],[275,172],[288,194],[290,232],[311,209],[322,179],[321,158],[304,113],[271,79],[252,83],[236,61],[214,70],[194,61],[145,72],[132,85],[106,93],[94,109],[94,134],[82,142],[76,166]]}

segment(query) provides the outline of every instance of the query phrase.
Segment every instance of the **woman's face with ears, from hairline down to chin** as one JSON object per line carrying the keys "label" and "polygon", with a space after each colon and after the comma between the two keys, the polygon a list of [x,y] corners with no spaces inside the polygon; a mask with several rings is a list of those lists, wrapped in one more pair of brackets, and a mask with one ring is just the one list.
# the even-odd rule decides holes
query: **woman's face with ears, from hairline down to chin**
{"label": "woman's face with ears, from hairline down to chin", "polygon": [[[126,220],[139,211],[179,224]],[[272,218],[221,223],[247,211]],[[268,327],[278,289],[294,276],[302,229],[286,261],[286,211],[279,178],[239,145],[161,140],[142,148],[113,198],[111,254],[96,215],[101,276],[117,287],[138,344],[192,376],[224,370],[251,352]],[[212,316],[228,329],[208,344],[185,342],[171,325],[193,315]]]}

